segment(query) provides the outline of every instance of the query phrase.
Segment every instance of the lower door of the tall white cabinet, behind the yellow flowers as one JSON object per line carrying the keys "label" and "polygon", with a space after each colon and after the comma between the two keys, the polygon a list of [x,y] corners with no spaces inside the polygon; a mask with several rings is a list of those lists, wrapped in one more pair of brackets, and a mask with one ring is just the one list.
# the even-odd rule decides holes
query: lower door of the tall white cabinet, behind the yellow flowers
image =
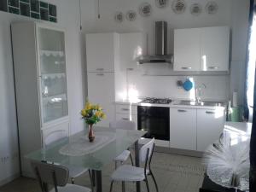
{"label": "lower door of the tall white cabinet, behind the yellow flowers", "polygon": [[114,106],[114,73],[87,73],[88,98],[93,104],[99,104],[107,118],[97,125],[109,126],[115,119]]}

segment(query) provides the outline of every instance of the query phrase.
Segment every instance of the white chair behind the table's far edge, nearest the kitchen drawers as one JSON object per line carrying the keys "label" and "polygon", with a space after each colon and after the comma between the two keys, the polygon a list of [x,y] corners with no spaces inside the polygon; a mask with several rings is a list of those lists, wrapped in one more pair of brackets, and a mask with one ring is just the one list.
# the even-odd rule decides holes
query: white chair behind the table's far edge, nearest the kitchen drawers
{"label": "white chair behind the table's far edge, nearest the kitchen drawers", "polygon": [[[109,126],[115,128],[115,129],[122,129],[122,130],[136,130],[137,129],[135,122],[130,121],[130,120],[112,121],[112,122],[110,122]],[[121,164],[123,164],[125,162],[125,160],[127,160],[129,157],[131,159],[131,165],[133,166],[131,152],[129,150],[125,150],[113,159],[115,162],[115,168],[117,168],[117,165],[119,162]]]}

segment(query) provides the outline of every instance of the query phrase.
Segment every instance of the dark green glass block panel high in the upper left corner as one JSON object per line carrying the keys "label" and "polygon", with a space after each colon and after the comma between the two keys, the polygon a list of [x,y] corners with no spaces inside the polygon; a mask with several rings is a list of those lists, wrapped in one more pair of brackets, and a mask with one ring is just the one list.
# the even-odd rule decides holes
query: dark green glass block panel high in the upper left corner
{"label": "dark green glass block panel high in the upper left corner", "polygon": [[0,11],[57,22],[56,6],[38,0],[0,0]]}

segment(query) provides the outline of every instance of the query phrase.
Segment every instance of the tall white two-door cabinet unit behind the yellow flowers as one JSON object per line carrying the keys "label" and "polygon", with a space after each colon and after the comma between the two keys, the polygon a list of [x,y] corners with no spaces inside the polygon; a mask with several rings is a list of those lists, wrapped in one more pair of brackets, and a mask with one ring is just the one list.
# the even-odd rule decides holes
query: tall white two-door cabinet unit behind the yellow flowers
{"label": "tall white two-door cabinet unit behind the yellow flowers", "polygon": [[119,34],[86,34],[88,99],[102,106],[107,118],[97,125],[108,126],[115,119],[114,102],[125,95],[125,73],[119,70]]}

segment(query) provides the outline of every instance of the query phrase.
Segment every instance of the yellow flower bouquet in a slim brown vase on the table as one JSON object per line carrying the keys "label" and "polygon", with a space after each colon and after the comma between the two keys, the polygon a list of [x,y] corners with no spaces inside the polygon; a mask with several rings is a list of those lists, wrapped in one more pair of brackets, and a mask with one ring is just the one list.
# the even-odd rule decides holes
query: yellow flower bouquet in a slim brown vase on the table
{"label": "yellow flower bouquet in a slim brown vase on the table", "polygon": [[89,125],[89,140],[94,141],[94,132],[92,130],[92,125],[100,122],[102,119],[106,118],[106,114],[103,113],[102,108],[99,105],[93,105],[90,102],[86,102],[85,107],[81,110],[82,119],[85,123]]}

